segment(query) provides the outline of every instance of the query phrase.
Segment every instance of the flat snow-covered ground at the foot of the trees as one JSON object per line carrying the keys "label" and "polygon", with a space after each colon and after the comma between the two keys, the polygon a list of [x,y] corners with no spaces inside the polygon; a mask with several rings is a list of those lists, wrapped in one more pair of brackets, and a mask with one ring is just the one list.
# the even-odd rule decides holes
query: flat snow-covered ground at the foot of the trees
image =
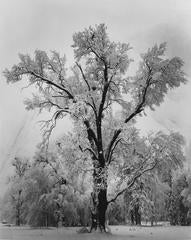
{"label": "flat snow-covered ground at the foot of the trees", "polygon": [[0,240],[191,240],[191,227],[112,226],[112,234],[77,233],[78,228],[30,229],[0,226]]}

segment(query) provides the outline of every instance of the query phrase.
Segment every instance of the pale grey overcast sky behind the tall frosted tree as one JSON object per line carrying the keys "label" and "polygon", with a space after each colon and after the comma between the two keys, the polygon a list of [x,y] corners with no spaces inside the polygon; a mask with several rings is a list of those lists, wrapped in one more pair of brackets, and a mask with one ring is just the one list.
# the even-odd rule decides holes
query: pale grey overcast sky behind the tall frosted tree
{"label": "pale grey overcast sky behind the tall frosted tree", "polygon": [[[31,156],[40,141],[37,114],[26,112],[22,85],[7,85],[2,75],[18,53],[57,50],[72,63],[72,34],[106,23],[112,40],[129,42],[135,57],[166,41],[169,56],[180,56],[190,79],[190,0],[0,0],[0,183],[15,155]],[[191,83],[171,92],[155,112],[139,120],[143,131],[177,130],[191,149]],[[38,117],[39,119],[39,117]],[[64,120],[59,133],[70,128]],[[55,136],[58,134],[58,130]],[[190,151],[191,154],[191,151]],[[0,185],[1,186],[1,185]]]}

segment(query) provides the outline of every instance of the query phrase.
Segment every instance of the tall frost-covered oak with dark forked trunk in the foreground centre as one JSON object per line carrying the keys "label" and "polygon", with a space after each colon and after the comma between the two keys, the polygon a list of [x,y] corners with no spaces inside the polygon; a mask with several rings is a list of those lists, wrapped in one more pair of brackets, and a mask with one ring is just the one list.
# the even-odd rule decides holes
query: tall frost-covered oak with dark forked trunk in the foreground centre
{"label": "tall frost-covered oak with dark forked trunk in the foreground centre", "polygon": [[[89,27],[73,35],[73,49],[76,60],[73,74],[66,77],[65,57],[52,52],[49,57],[43,51],[35,51],[34,58],[20,55],[20,63],[11,70],[5,70],[7,82],[17,82],[27,76],[29,85],[38,90],[32,100],[26,100],[26,108],[46,108],[54,111],[52,119],[44,124],[44,142],[47,146],[50,134],[59,118],[69,114],[74,125],[81,129],[86,139],[83,151],[89,152],[93,164],[93,195],[100,228],[105,229],[108,166],[122,137],[124,125],[149,107],[159,106],[168,89],[185,83],[182,71],[183,61],[164,56],[166,45],[155,45],[141,55],[136,76],[125,76],[131,62],[128,57],[129,44],[114,43],[109,40],[106,26],[100,24]],[[125,101],[124,94],[127,95]],[[104,121],[112,112],[112,104],[122,107],[123,119],[110,132],[110,138],[103,135]],[[148,168],[149,170],[150,168]],[[139,174],[128,183],[131,187],[135,179],[147,171],[143,165]]]}

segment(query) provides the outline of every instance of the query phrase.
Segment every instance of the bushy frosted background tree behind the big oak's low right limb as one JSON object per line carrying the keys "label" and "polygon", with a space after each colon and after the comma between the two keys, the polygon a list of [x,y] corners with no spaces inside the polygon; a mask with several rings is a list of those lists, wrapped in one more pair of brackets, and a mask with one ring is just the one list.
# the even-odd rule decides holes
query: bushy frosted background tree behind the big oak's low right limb
{"label": "bushy frosted background tree behind the big oak's low right limb", "polygon": [[[141,213],[144,213],[144,217],[147,216],[148,220],[157,219],[154,217],[157,215],[156,209],[159,208],[157,200],[168,189],[162,180],[162,174],[169,169],[173,171],[183,166],[184,139],[178,133],[167,135],[158,132],[146,138],[140,138],[136,131],[132,134],[126,138],[129,141],[123,140],[119,143],[119,151],[114,154],[117,160],[111,163],[111,166],[114,164],[116,180],[112,184],[116,186],[116,189],[113,189],[117,191],[116,196],[119,196],[126,191],[124,182],[131,182],[134,177],[135,184],[126,193],[129,194],[127,203],[132,223],[140,224]],[[125,135],[128,136],[127,133]],[[145,169],[144,176],[142,169]],[[123,186],[122,190],[120,190],[121,186]]]}

